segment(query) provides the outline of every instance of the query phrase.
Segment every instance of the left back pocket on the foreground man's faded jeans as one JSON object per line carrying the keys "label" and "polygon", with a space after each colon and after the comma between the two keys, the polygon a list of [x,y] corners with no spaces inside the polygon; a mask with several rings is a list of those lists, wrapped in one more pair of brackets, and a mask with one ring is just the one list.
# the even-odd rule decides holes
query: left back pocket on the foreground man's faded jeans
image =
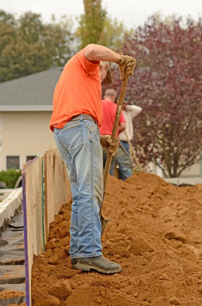
{"label": "left back pocket on the foreground man's faded jeans", "polygon": [[83,133],[81,123],[75,121],[66,124],[61,130],[61,136],[66,148],[70,152],[75,152],[83,145]]}

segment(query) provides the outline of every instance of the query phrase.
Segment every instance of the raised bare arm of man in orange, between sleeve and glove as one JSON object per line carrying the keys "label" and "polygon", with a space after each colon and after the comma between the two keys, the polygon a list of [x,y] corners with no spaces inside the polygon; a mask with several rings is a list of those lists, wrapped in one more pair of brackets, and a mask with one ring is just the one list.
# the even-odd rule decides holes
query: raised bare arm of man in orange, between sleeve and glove
{"label": "raised bare arm of man in orange, between sleeve and glove", "polygon": [[121,62],[121,55],[113,52],[111,49],[97,45],[97,44],[89,44],[84,49],[84,56],[89,61],[105,61],[105,62]]}

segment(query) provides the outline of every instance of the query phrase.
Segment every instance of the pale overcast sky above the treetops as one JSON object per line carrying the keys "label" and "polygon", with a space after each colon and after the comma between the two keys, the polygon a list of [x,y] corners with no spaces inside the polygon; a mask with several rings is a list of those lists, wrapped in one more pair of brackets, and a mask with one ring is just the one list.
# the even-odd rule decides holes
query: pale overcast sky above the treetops
{"label": "pale overcast sky above the treetops", "polygon": [[[202,0],[103,0],[103,5],[112,17],[123,20],[128,28],[143,24],[148,16],[159,10],[165,16],[190,14],[197,19],[198,14],[202,15]],[[49,21],[52,13],[56,17],[79,16],[83,12],[83,0],[0,0],[0,9],[11,13],[31,10],[42,13],[43,19]]]}

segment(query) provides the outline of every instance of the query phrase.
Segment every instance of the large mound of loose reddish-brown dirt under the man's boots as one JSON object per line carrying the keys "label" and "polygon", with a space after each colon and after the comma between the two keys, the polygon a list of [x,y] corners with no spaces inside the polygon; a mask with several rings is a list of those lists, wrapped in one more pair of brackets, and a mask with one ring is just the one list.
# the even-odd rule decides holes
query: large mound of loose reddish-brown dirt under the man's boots
{"label": "large mound of loose reddish-brown dirt under the man's boots", "polygon": [[46,251],[34,257],[33,306],[202,305],[200,185],[176,187],[146,173],[109,177],[103,254],[121,264],[119,274],[71,269],[70,212],[70,204],[61,209]]}

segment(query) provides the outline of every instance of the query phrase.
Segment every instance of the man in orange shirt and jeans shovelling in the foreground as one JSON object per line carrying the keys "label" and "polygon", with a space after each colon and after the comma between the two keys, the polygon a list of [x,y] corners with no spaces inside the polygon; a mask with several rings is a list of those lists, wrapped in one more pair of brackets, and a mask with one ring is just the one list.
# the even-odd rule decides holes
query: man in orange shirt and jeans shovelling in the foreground
{"label": "man in orange shirt and jeans shovelling in the foreground", "polygon": [[109,62],[119,64],[121,80],[133,76],[135,59],[90,44],[66,64],[53,95],[50,129],[67,166],[72,190],[70,258],[72,268],[116,273],[119,264],[102,256],[100,206],[103,198],[102,147],[112,156],[118,139],[100,136],[101,83],[110,84]]}

